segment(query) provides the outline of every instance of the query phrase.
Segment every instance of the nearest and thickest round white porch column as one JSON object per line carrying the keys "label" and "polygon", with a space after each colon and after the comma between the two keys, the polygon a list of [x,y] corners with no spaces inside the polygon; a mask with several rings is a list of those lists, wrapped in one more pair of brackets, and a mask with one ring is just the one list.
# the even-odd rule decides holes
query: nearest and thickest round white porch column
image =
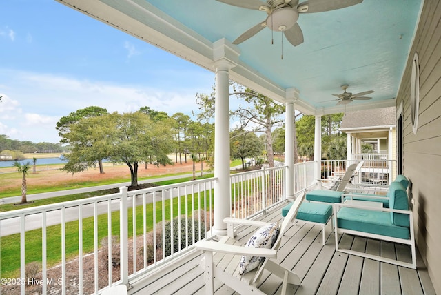
{"label": "nearest and thickest round white porch column", "polygon": [[214,228],[212,234],[226,235],[223,222],[231,214],[229,183],[229,69],[226,59],[216,61],[216,97],[214,112]]}

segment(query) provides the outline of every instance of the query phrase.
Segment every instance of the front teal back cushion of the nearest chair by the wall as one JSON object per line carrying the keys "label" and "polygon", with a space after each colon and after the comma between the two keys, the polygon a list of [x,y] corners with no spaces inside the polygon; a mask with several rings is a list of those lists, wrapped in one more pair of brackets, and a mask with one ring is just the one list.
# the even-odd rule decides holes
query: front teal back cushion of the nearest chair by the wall
{"label": "front teal back cushion of the nearest chair by the wall", "polygon": [[[409,201],[407,192],[400,182],[393,182],[389,187],[389,208],[398,210],[409,210]],[[391,212],[391,221],[393,225],[409,227],[409,215]]]}

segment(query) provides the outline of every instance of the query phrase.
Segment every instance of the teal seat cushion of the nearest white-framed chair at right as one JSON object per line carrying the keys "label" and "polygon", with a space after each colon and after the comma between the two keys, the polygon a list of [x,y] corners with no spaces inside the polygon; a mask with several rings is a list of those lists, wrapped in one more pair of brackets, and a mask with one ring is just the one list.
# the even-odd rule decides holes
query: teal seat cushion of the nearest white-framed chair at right
{"label": "teal seat cushion of the nearest white-framed chair at right", "polygon": [[337,213],[337,225],[357,232],[410,238],[409,227],[393,225],[389,212],[342,207]]}

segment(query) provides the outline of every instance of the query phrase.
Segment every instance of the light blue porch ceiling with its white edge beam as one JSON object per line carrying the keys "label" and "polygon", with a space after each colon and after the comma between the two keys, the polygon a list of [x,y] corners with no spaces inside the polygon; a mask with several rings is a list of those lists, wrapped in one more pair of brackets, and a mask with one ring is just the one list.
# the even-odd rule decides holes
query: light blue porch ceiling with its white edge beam
{"label": "light blue porch ceiling with its white edge beam", "polygon": [[[280,32],[274,32],[271,45],[269,28],[232,45],[266,13],[215,0],[56,1],[208,70],[225,54],[237,63],[232,80],[280,102],[297,99],[296,109],[307,114],[395,105],[421,6],[420,0],[365,0],[300,14],[305,41],[294,47],[285,37],[282,46]],[[368,95],[370,101],[355,101],[345,109],[330,101],[345,84],[348,92],[375,92]]]}

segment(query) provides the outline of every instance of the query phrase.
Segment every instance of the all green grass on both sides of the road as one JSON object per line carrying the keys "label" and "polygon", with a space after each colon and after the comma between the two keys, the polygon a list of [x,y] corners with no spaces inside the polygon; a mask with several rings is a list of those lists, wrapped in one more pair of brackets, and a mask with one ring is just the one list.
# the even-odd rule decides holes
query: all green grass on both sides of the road
{"label": "all green grass on both sides of the road", "polygon": [[[240,160],[233,161],[232,167],[240,165]],[[187,173],[186,173],[187,174]],[[176,174],[173,174],[176,175]],[[0,175],[1,176],[1,175]],[[161,175],[158,177],[164,177],[165,175]],[[205,179],[212,177],[212,174],[206,174],[205,176],[198,177],[198,179]],[[192,177],[186,177],[181,179],[174,179],[170,181],[158,181],[154,183],[155,185],[168,185],[172,183],[181,183],[185,181],[192,180]],[[1,179],[0,179],[1,181]],[[121,181],[122,182],[122,181]],[[110,182],[112,183],[112,182]],[[100,182],[100,185],[108,184],[107,181]],[[84,184],[83,184],[84,185]],[[94,183],[96,185],[96,183]],[[84,186],[83,186],[84,187]],[[48,188],[41,189],[41,192],[50,192],[52,190],[48,190]],[[58,188],[59,190],[59,188]],[[40,199],[34,201],[34,203],[29,203],[25,205],[20,205],[21,208],[25,207],[34,207],[39,205],[47,205],[50,203],[59,203],[63,201],[72,201],[76,199],[85,199],[91,196],[101,196],[104,194],[109,194],[108,190],[101,190],[96,192],[88,192],[83,194],[72,194],[68,196],[57,196],[54,198],[48,199]],[[1,196],[1,194],[0,194]],[[194,207],[198,207],[198,194],[194,194]],[[207,205],[207,192],[201,192],[201,201],[203,202],[202,208],[205,208]],[[185,212],[185,202],[189,196],[181,198],[181,212],[178,212],[178,198],[173,199],[173,216],[178,216],[179,214],[183,214]],[[0,212],[15,210],[18,209],[17,206],[13,204],[5,204],[0,205]],[[162,218],[162,203],[156,203],[156,218],[161,220]],[[189,202],[187,204],[187,214],[192,214],[192,203]],[[128,210],[129,216],[129,228],[132,228],[132,208]],[[153,203],[147,204],[145,216],[147,216],[147,232],[152,230],[153,227]],[[170,201],[165,205],[165,220],[170,220]],[[119,211],[112,212],[112,234],[119,235]],[[66,258],[73,258],[79,254],[79,222],[72,221],[66,223]],[[94,250],[94,218],[88,217],[83,218],[83,252],[89,253]],[[136,207],[136,235],[143,233],[143,206]],[[130,236],[132,236],[132,230],[129,231]],[[98,241],[101,241],[101,238],[108,235],[108,224],[107,224],[107,214],[102,214],[98,216]],[[47,245],[47,261],[48,265],[55,265],[61,261],[61,225],[52,225],[47,227],[46,234],[46,245]],[[42,256],[42,231],[39,230],[31,230],[25,232],[25,263],[30,263],[32,261],[41,261]],[[19,276],[19,267],[20,267],[20,234],[12,234],[10,236],[3,236],[0,239],[1,247],[0,247],[0,257],[1,257],[1,265],[0,265],[0,273],[3,278],[14,278]]]}

